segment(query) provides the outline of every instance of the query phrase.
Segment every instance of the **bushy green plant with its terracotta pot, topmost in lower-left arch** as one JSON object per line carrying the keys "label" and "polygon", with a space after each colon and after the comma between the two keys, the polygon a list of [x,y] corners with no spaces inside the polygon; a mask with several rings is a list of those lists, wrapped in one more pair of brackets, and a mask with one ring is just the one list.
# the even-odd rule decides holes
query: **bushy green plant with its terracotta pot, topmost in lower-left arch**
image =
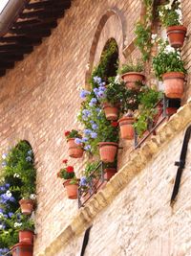
{"label": "bushy green plant with its terracotta pot, topmost in lower-left arch", "polygon": [[11,193],[19,195],[23,214],[32,214],[35,201],[36,170],[32,148],[26,141],[20,141],[4,160],[5,180],[12,184]]}

